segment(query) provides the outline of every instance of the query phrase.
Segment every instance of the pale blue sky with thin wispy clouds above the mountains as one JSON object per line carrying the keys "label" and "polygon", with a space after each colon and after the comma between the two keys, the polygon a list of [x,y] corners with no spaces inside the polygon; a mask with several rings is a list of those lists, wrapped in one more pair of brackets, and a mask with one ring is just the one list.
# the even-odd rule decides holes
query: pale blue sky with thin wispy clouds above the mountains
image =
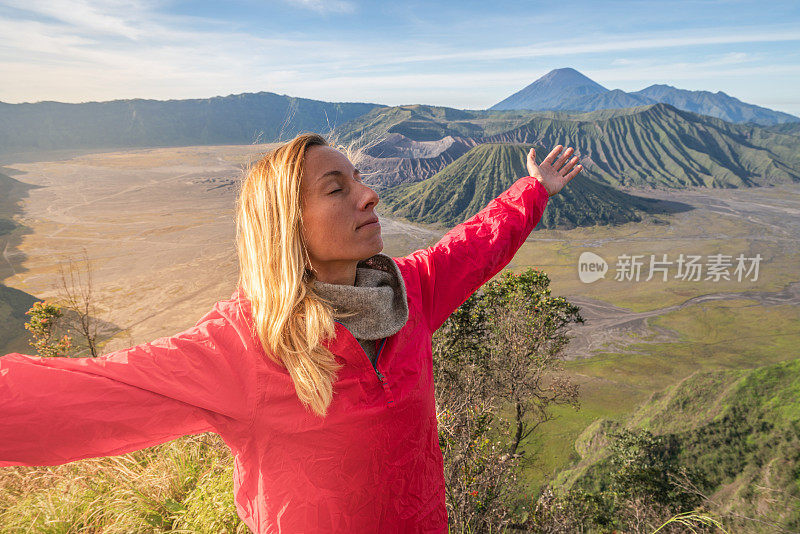
{"label": "pale blue sky with thin wispy clouds above the mountains", "polygon": [[0,0],[0,101],[206,98],[483,109],[554,68],[800,116],[800,2]]}

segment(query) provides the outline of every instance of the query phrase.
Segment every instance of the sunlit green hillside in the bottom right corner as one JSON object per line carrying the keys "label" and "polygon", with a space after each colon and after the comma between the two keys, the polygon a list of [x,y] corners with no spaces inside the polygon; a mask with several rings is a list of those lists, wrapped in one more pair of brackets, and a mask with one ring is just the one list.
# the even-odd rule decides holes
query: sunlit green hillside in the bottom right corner
{"label": "sunlit green hillside in the bottom right corner", "polygon": [[[718,511],[800,529],[800,361],[753,370],[696,373],[654,395],[621,423],[597,421],[576,442],[583,456],[560,487],[596,489],[609,476],[617,426],[664,436],[678,465],[719,503]],[[742,520],[736,532],[780,532]]]}

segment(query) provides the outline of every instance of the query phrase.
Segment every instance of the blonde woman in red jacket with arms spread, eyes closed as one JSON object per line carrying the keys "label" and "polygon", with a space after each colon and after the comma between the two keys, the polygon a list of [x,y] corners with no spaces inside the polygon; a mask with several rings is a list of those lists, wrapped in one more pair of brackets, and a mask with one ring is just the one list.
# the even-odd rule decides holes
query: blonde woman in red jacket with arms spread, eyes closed
{"label": "blonde woman in red jacket with arms spread, eyes closed", "polygon": [[581,170],[560,145],[430,248],[381,254],[378,196],[299,135],[248,173],[236,291],[192,328],[98,358],[0,358],[0,466],[217,432],[258,533],[447,532],[431,335]]}

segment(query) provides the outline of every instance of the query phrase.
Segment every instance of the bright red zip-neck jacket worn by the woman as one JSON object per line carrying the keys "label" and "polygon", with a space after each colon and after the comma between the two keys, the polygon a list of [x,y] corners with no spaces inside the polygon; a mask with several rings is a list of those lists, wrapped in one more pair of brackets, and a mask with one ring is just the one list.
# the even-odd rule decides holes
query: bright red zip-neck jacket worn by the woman
{"label": "bright red zip-neck jacket worn by the woman", "polygon": [[171,337],[97,358],[0,358],[0,466],[114,456],[216,432],[235,457],[239,516],[256,533],[446,533],[431,335],[505,267],[548,194],[515,182],[430,248],[394,258],[408,322],[377,371],[336,324],[345,366],[321,419],[247,328],[237,289]]}

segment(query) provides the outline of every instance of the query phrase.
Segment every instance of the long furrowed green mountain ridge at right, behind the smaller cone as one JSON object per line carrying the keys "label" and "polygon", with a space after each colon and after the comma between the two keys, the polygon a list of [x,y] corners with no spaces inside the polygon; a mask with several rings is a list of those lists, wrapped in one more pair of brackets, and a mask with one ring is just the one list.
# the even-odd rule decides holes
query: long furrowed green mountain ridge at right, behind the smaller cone
{"label": "long furrowed green mountain ridge at right, behind the smaller cone", "polygon": [[612,186],[749,187],[800,182],[800,140],[678,110],[629,108],[605,119],[535,117],[484,142],[574,146],[587,175]]}

